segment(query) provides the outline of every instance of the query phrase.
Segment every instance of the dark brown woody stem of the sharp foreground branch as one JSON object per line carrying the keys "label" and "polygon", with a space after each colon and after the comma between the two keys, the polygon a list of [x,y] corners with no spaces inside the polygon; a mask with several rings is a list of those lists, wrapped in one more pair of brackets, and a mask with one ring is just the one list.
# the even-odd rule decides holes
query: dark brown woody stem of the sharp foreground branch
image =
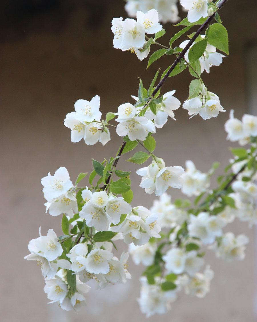
{"label": "dark brown woody stem of the sharp foreground branch", "polygon": [[[217,8],[218,10],[227,2],[228,0],[222,0],[218,5],[217,5]],[[217,11],[216,11],[217,12]],[[180,52],[180,54],[178,55],[178,57],[176,58],[175,62],[173,62],[171,68],[166,72],[166,74],[164,75],[164,77],[162,78],[162,80],[159,82],[159,84],[156,86],[155,90],[153,91],[152,93],[152,97],[155,96],[155,94],[157,93],[157,91],[163,86],[164,82],[166,81],[166,79],[169,77],[170,73],[173,71],[173,69],[175,68],[175,66],[181,61],[181,59],[184,57],[185,53],[188,51],[188,49],[190,48],[190,46],[192,45],[192,43],[196,40],[196,38],[199,36],[199,34],[208,26],[208,24],[210,23],[210,21],[214,18],[215,16],[215,13],[213,13],[212,16],[210,16],[201,26],[200,28],[197,30],[197,32],[193,35],[193,37],[191,38],[191,40],[189,41],[189,43],[186,45],[186,47],[182,50],[182,52]],[[151,98],[152,99],[152,98]],[[150,100],[149,100],[150,101]],[[149,103],[146,102],[146,104],[143,106],[142,109],[144,109],[146,107],[146,105]],[[119,153],[117,154],[117,156],[121,156],[121,153],[124,149],[126,145],[126,142],[124,141],[122,143],[122,146],[120,148],[120,151]],[[112,164],[112,167],[111,169],[113,170],[117,163],[118,163],[118,160],[120,158],[116,159],[113,164]],[[106,186],[109,184],[110,182],[110,179],[111,179],[111,175],[107,178],[106,180],[106,184],[101,188],[101,190],[105,190]]]}

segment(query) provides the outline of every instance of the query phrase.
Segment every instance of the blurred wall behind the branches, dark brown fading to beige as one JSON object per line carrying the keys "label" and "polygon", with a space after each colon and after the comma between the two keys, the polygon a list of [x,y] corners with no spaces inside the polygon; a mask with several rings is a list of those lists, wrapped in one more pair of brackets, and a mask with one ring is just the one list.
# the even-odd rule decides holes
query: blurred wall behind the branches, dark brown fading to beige
{"label": "blurred wall behind the branches, dark brown fading to beige", "polygon": [[[112,141],[104,147],[100,143],[72,143],[63,120],[74,111],[75,101],[99,95],[104,118],[120,104],[133,103],[130,95],[137,95],[136,76],[147,87],[159,67],[163,72],[173,62],[173,56],[164,56],[146,70],[147,59],[140,62],[135,54],[113,48],[111,20],[127,17],[124,4],[122,0],[0,1],[1,321],[256,321],[255,229],[238,220],[226,229],[250,237],[245,260],[226,263],[208,254],[206,259],[215,271],[210,293],[204,299],[181,295],[169,313],[149,319],[140,313],[136,301],[138,277],[144,268],[131,259],[132,279],[101,291],[91,289],[86,294],[88,306],[78,314],[47,304],[40,268],[23,259],[29,253],[28,242],[39,236],[39,226],[43,235],[49,228],[62,234],[61,216],[45,213],[41,178],[65,166],[74,183],[80,172],[92,171],[92,158],[101,162],[114,156],[122,143],[112,129]],[[228,163],[228,148],[236,146],[226,141],[224,131],[229,110],[234,109],[239,119],[244,113],[256,114],[256,9],[255,1],[234,0],[220,11],[228,30],[230,54],[202,78],[208,90],[219,96],[226,112],[209,120],[199,116],[189,120],[186,110],[176,110],[177,120],[170,118],[154,136],[155,154],[164,158],[166,165],[184,166],[190,159],[206,172],[213,161],[219,161],[218,176]],[[180,16],[186,14],[180,10]],[[166,34],[160,42],[168,44],[177,29],[171,23],[164,28]],[[191,75],[183,72],[169,78],[162,93],[176,90],[174,96],[183,102],[190,81]],[[154,195],[139,188],[141,177],[135,173],[139,166],[126,164],[125,159],[119,161],[118,168],[132,171],[132,206],[150,207]],[[181,196],[176,189],[169,193],[172,199]],[[118,246],[119,253],[125,249],[122,243]]]}

